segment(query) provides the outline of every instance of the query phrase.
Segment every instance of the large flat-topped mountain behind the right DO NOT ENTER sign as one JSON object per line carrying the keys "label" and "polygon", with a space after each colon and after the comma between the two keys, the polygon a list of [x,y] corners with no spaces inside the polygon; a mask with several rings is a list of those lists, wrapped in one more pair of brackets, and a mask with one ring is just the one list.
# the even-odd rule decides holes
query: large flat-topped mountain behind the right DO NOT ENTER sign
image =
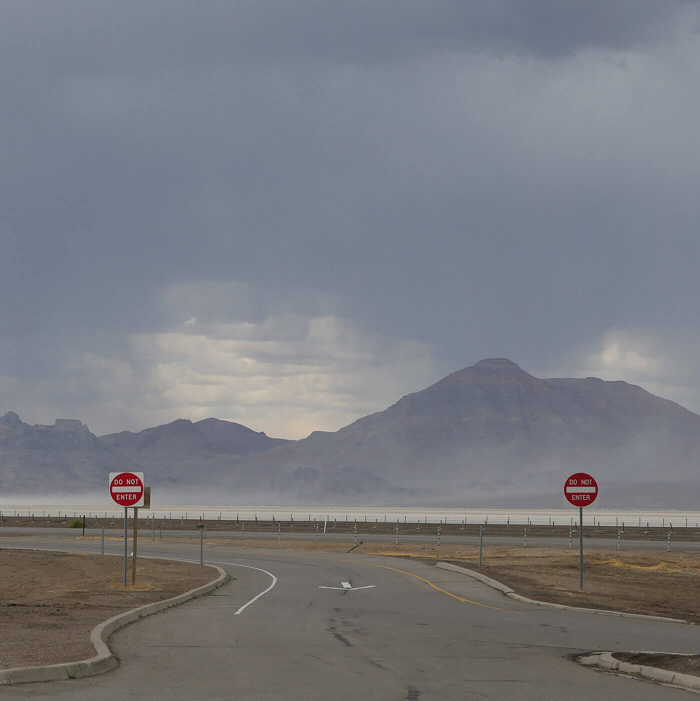
{"label": "large flat-topped mountain behind the right DO NOT ENTER sign", "polygon": [[362,469],[412,503],[530,507],[561,505],[565,477],[584,471],[601,484],[596,506],[673,508],[695,505],[698,455],[700,416],[675,402],[622,381],[537,379],[496,358],[236,469]]}

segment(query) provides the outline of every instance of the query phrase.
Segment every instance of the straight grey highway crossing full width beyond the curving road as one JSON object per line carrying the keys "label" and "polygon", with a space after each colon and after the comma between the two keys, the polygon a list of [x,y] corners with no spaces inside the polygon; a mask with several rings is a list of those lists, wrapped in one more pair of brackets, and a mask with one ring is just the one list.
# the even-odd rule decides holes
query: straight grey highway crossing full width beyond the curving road
{"label": "straight grey highway crossing full width beyond the curving road", "polygon": [[[61,533],[61,531],[63,531]],[[57,533],[64,538],[76,538],[82,536],[82,529],[55,529],[55,528],[21,528],[17,526],[0,527],[0,537],[4,534],[13,536],[56,536]],[[105,537],[114,538],[123,534],[121,529],[105,529]],[[131,529],[129,529],[131,534]],[[99,529],[85,529],[85,536],[99,536]],[[139,543],[151,540],[153,531],[146,528],[139,528]],[[129,536],[131,537],[131,536]],[[166,531],[164,529],[156,529],[156,543],[160,538],[199,538],[199,531]],[[282,531],[282,540],[315,540],[315,533],[293,533]],[[341,540],[344,543],[352,542],[352,533],[319,533],[318,540],[320,543],[326,541]],[[217,538],[227,538],[232,540],[240,540],[241,545],[245,546],[246,540],[270,540],[270,547],[275,547],[277,541],[277,533],[256,533],[252,531],[245,532],[245,538],[241,537],[240,531],[207,531],[207,542],[211,543]],[[357,533],[357,540],[363,540],[365,543],[394,543],[395,537],[386,533]],[[523,536],[483,536],[483,545],[502,545],[503,547],[523,547]],[[399,533],[400,543],[425,543],[430,545],[437,544],[437,537],[434,535],[402,535]],[[479,536],[441,536],[441,545],[479,545]],[[533,536],[528,533],[528,547],[569,547],[569,539],[550,536]],[[637,540],[634,538],[622,539],[620,547],[623,550],[631,550],[640,548],[643,550],[662,550],[666,552],[666,540]],[[578,538],[574,534],[571,540],[571,547],[577,549]],[[584,547],[604,547],[615,549],[617,547],[616,538],[584,538]],[[700,540],[671,540],[671,550],[700,550]]]}

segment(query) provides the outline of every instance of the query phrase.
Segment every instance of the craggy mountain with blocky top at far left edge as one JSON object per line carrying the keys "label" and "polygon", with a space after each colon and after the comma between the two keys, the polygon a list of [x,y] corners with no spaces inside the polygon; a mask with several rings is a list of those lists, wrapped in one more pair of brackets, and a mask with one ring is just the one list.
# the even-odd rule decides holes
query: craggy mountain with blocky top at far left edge
{"label": "craggy mountain with blocky top at far left edge", "polygon": [[134,469],[81,421],[57,418],[53,426],[29,426],[14,411],[0,416],[2,494],[105,489],[109,472]]}

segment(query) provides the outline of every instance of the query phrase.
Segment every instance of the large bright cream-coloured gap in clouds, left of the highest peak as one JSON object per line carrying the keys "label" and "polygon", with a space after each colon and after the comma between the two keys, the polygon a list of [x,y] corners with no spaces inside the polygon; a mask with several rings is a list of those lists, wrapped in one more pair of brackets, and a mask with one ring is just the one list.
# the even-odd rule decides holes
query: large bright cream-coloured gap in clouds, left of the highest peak
{"label": "large bright cream-coloured gap in clouds, left of the highest peak", "polygon": [[332,316],[191,322],[130,341],[156,414],[217,416],[282,438],[337,430],[434,379],[427,343],[378,344]]}

